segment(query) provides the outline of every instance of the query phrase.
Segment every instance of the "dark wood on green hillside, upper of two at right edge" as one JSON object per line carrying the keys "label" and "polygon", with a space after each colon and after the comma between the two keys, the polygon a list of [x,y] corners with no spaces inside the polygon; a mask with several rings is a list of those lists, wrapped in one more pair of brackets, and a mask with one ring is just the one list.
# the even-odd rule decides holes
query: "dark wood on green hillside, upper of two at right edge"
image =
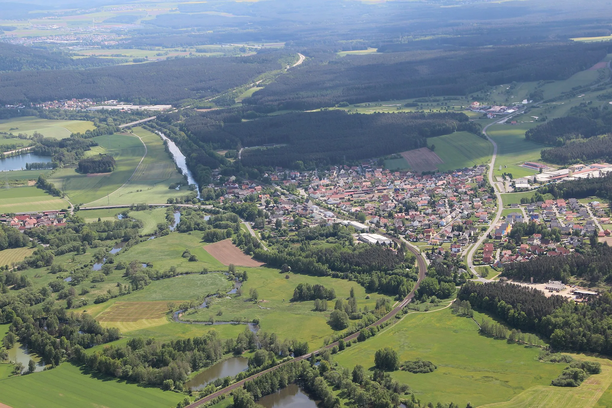
{"label": "dark wood on green hillside, upper of two at right edge", "polygon": [[[529,129],[525,132],[525,139],[553,146],[563,146],[566,141],[572,139],[591,138],[610,132],[612,132],[612,109],[610,109],[610,105],[604,105],[600,109],[583,102],[570,109],[567,116],[552,119],[545,124]],[[573,144],[566,147],[567,149],[563,151],[567,152],[570,160],[582,159],[583,155],[578,155],[579,152],[573,149]],[[547,150],[543,150],[542,158],[558,159],[556,155],[549,155],[548,152],[545,152]],[[559,161],[555,161],[555,163],[565,164]]]}

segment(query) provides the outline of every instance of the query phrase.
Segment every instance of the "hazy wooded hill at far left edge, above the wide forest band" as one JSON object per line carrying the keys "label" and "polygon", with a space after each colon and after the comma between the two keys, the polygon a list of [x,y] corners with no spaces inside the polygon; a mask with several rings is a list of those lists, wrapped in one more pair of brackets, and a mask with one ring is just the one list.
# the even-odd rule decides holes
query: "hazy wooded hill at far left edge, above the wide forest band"
{"label": "hazy wooded hill at far left edge, above the wide forest band", "polygon": [[126,60],[85,57],[72,59],[61,52],[36,50],[28,46],[0,42],[0,73],[31,70],[85,69],[121,64]]}

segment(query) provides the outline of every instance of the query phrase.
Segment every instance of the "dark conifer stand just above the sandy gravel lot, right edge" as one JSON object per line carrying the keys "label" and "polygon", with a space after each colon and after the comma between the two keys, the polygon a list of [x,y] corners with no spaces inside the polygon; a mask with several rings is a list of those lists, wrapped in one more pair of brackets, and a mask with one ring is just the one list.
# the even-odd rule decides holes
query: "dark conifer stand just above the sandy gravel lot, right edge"
{"label": "dark conifer stand just above the sandy gravel lot, right edge", "polygon": [[578,276],[593,284],[612,279],[612,248],[595,245],[569,255],[540,256],[529,262],[504,264],[502,276],[518,280],[534,278],[537,282],[560,280],[564,283],[571,276]]}

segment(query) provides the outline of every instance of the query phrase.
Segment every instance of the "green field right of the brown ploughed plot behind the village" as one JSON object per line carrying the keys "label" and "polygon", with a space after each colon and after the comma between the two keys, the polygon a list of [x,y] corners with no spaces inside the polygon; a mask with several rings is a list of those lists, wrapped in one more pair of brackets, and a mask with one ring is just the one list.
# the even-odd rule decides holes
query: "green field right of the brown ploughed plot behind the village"
{"label": "green field right of the brown ploughed plot behind the village", "polygon": [[436,146],[436,154],[443,161],[439,171],[482,165],[491,161],[493,144],[469,132],[455,132],[427,140]]}

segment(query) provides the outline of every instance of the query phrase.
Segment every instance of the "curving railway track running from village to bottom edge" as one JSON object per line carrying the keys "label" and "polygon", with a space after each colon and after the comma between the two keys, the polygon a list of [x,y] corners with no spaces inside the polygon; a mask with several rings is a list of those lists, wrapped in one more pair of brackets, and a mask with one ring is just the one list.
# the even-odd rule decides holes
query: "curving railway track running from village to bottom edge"
{"label": "curving railway track running from village to bottom edge", "polygon": [[[398,312],[400,312],[404,306],[408,305],[408,303],[410,303],[410,301],[412,300],[412,298],[414,297],[414,291],[416,291],[417,289],[419,289],[419,283],[420,281],[422,281],[425,278],[425,273],[427,272],[427,265],[425,264],[425,259],[423,258],[423,256],[414,248],[412,247],[408,247],[408,250],[411,251],[412,253],[414,253],[417,256],[417,263],[419,264],[419,280],[417,281],[417,283],[414,285],[414,288],[412,289],[412,291],[408,294],[408,296],[406,296],[404,298],[404,300],[402,300],[400,302],[399,305],[395,306],[395,309],[390,311],[389,313],[387,313],[385,316],[381,317],[381,319],[379,319],[378,321],[376,321],[375,323],[371,324],[368,327],[371,326],[378,326],[380,324],[383,324],[384,322],[388,321],[389,319],[391,319],[392,317],[394,317]],[[353,340],[355,338],[357,338],[357,336],[359,336],[359,332],[354,333],[348,337],[345,337],[343,340],[344,341],[349,341],[349,340]],[[313,351],[313,353],[319,354],[319,352],[325,350],[325,349],[331,349],[334,346],[337,346],[338,342],[335,341],[334,343],[331,344],[327,344],[327,346],[323,347],[322,349]],[[306,358],[310,357],[312,353],[308,353],[305,355],[301,355],[300,357],[294,358],[293,360],[289,360],[288,362],[285,363],[281,363],[277,366],[265,369],[264,371],[261,371],[261,373],[257,373],[257,374],[253,374],[250,377],[245,378],[244,380],[240,380],[238,382],[235,382],[234,384],[222,388],[221,390],[215,391],[214,393],[212,393],[211,395],[205,396],[202,399],[199,399],[198,401],[192,402],[191,404],[189,404],[188,406],[186,406],[185,408],[195,408],[195,407],[199,407],[202,404],[206,404],[207,402],[211,401],[214,398],[217,398],[220,395],[229,393],[232,390],[235,390],[236,388],[240,388],[242,387],[242,385],[244,385],[245,382],[250,381],[256,377],[261,376],[262,374],[265,373],[269,373],[270,371],[274,371],[275,369],[277,369],[278,367],[285,365],[287,363],[291,363],[291,362],[296,362],[296,361],[300,361],[300,360],[305,360]]]}

